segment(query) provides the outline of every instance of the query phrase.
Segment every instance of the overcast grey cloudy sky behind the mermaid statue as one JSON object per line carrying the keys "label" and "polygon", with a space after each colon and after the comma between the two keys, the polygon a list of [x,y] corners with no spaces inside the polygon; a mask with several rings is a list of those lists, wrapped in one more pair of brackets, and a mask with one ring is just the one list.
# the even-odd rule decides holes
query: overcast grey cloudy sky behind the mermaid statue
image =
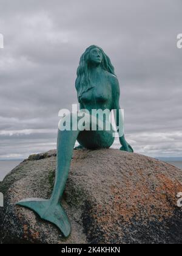
{"label": "overcast grey cloudy sky behind the mermaid statue", "polygon": [[91,44],[115,66],[135,152],[181,157],[181,10],[181,0],[0,0],[0,158],[56,148],[59,109],[77,102]]}

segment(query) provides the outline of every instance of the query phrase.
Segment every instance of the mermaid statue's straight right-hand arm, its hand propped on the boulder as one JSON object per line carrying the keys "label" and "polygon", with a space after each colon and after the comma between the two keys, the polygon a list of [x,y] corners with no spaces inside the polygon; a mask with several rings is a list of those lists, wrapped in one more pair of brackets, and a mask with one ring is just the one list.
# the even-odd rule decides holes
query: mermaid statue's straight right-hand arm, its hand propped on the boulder
{"label": "mermaid statue's straight right-hand arm, its hand propped on the boulder", "polygon": [[121,143],[120,149],[122,151],[133,152],[132,147],[127,143],[124,137],[124,117],[120,107],[120,84],[116,76],[112,77],[112,100],[113,100],[112,109],[115,110],[114,111],[115,123],[118,129],[118,134],[119,134],[120,143]]}

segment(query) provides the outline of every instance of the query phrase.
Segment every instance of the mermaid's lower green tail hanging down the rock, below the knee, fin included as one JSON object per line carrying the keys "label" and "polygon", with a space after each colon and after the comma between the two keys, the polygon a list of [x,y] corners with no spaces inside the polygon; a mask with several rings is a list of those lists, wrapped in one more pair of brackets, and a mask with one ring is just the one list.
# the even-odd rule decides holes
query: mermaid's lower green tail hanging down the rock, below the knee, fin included
{"label": "mermaid's lower green tail hanging down the rock, below the knee, fin included", "polygon": [[71,225],[60,202],[66,187],[73,148],[78,133],[79,131],[58,131],[56,179],[51,198],[49,200],[31,198],[17,203],[17,205],[33,210],[41,219],[55,224],[66,237],[70,235]]}

